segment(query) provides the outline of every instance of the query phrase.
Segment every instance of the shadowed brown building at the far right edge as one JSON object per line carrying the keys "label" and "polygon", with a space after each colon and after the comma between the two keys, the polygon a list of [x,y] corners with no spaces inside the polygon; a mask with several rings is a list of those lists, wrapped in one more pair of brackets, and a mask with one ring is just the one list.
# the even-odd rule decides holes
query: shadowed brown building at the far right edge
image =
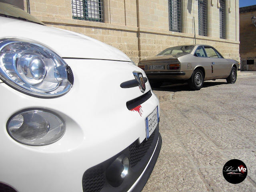
{"label": "shadowed brown building at the far right edge", "polygon": [[251,20],[256,16],[256,5],[242,7],[239,12],[241,70],[256,71],[256,26]]}

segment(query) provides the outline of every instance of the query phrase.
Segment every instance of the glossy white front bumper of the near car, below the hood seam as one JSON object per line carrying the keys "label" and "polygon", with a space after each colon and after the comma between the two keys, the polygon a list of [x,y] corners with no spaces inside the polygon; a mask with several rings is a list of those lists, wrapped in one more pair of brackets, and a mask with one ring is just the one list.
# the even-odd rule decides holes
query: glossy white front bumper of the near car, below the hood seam
{"label": "glossy white front bumper of the near car, below the hood seam", "polygon": [[[152,93],[141,104],[142,114],[127,108],[127,101],[142,95],[138,87],[120,87],[121,82],[134,78],[133,66],[101,60],[86,60],[88,65],[84,60],[66,62],[72,68],[75,82],[70,92],[62,97],[34,98],[0,84],[0,144],[3,146],[0,148],[0,187],[10,186],[17,192],[86,192],[82,184],[86,170],[102,162],[110,163],[120,152],[130,158],[127,147],[134,142],[143,143],[145,118],[159,106],[159,101]],[[111,76],[91,72],[85,76],[88,68],[92,71],[114,68],[115,73]],[[125,73],[127,70],[131,71],[129,76]],[[146,82],[145,94],[149,91],[152,90]],[[46,146],[26,146],[13,140],[6,131],[6,122],[14,113],[28,108],[42,108],[58,114],[66,125],[64,136]],[[160,134],[158,137],[161,140]],[[159,140],[150,145],[154,152],[148,150],[147,158],[136,165],[141,164],[138,171],[134,171],[134,178],[122,182],[120,191],[135,190],[143,183],[144,179],[139,178],[149,177],[155,164],[153,159],[159,154]],[[104,190],[102,188],[101,192]]]}

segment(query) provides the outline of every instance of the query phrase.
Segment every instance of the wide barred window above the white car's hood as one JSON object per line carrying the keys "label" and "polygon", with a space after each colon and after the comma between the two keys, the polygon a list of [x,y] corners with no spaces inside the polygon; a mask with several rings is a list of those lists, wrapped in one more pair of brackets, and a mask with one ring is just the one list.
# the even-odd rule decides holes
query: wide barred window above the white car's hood
{"label": "wide barred window above the white car's hood", "polygon": [[73,19],[103,22],[103,0],[72,0]]}

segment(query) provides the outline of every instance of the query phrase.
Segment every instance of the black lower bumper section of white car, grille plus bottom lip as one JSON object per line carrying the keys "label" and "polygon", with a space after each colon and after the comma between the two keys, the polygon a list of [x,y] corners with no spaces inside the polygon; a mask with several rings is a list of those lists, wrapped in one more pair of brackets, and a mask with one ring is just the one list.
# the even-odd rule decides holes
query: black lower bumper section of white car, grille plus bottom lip
{"label": "black lower bumper section of white car, grille plus bottom lip", "polygon": [[[83,191],[140,192],[154,169],[161,146],[162,137],[157,127],[148,140],[145,139],[141,144],[135,141],[114,157],[86,170],[82,179]],[[128,175],[121,184],[109,182],[108,167],[122,155],[128,156],[130,159]]]}

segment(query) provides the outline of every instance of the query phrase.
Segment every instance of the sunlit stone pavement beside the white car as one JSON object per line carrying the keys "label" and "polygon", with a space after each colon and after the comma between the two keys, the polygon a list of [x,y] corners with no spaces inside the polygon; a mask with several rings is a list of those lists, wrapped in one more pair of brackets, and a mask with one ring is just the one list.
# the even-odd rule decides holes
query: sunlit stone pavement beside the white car
{"label": "sunlit stone pavement beside the white car", "polygon": [[[256,76],[153,90],[160,99],[162,149],[143,192],[256,192]],[[223,166],[242,160],[240,184],[228,183]]]}

